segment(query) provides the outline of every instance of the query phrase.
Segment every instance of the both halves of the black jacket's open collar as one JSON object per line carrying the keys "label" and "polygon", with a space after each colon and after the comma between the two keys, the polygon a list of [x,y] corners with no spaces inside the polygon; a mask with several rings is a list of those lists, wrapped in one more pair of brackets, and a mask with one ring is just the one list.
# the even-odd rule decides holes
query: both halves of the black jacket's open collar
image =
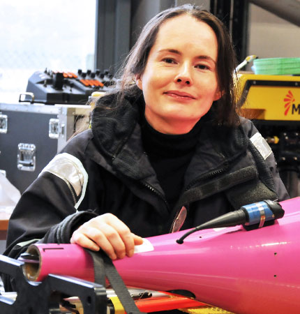
{"label": "both halves of the black jacket's open collar", "polygon": [[[130,179],[147,181],[161,190],[156,174],[142,147],[139,105],[144,98],[125,97],[117,106],[118,94],[100,98],[93,110],[91,129],[94,143],[116,173]],[[103,107],[106,107],[104,110]],[[230,163],[246,150],[248,137],[241,126],[216,126],[205,117],[193,160],[186,172],[185,185],[225,163]]]}

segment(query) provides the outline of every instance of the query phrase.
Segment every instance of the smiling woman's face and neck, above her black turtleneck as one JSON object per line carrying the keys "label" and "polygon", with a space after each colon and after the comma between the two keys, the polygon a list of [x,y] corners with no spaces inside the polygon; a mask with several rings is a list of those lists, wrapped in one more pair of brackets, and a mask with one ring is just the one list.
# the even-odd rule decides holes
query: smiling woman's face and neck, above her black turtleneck
{"label": "smiling woman's face and neck, above her black turtleneck", "polygon": [[137,77],[149,124],[165,134],[188,133],[220,98],[213,29],[190,15],[164,22]]}

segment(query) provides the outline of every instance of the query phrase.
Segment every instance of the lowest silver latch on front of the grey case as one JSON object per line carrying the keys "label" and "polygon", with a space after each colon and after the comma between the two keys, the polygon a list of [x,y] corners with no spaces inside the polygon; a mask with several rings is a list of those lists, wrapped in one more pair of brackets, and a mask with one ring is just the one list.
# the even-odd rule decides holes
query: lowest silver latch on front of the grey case
{"label": "lowest silver latch on front of the grey case", "polygon": [[36,145],[19,143],[17,145],[17,169],[36,170]]}

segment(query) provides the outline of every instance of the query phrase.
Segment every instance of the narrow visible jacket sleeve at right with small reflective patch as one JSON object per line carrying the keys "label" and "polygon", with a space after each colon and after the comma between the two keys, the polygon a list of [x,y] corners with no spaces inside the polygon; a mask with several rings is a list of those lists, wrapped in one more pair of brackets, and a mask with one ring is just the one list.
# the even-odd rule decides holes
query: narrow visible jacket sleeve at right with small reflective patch
{"label": "narrow visible jacket sleeve at right with small reflective patch", "polygon": [[[283,181],[280,179],[280,175],[277,168],[277,163],[276,163],[273,151],[271,151],[271,147],[269,147],[269,144],[267,143],[267,141],[264,140],[262,135],[260,135],[257,128],[255,128],[255,126],[250,120],[241,119],[241,124],[246,134],[250,138],[251,142],[253,142],[257,150],[260,151],[260,153],[262,154],[262,157],[264,158],[265,162],[269,166],[269,169],[273,176],[273,180],[275,184],[275,192],[278,195],[278,200],[283,201],[283,200],[289,199],[290,195],[287,193],[287,189],[285,188]],[[260,147],[262,147],[262,149],[260,149]]]}

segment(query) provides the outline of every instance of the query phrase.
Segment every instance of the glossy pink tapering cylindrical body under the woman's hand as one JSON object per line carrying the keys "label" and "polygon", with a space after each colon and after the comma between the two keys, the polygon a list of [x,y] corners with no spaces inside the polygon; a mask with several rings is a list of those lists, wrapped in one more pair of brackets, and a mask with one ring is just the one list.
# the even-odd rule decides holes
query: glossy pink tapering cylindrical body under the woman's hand
{"label": "glossy pink tapering cylindrical body under the woman's hand", "polygon": [[[252,231],[242,226],[202,230],[183,244],[176,239],[186,230],[151,237],[152,249],[114,265],[131,287],[188,290],[197,300],[234,313],[299,313],[300,197],[280,204],[285,216],[274,225]],[[93,281],[87,276],[93,274],[91,259],[79,246],[59,245],[64,251],[45,250],[53,244],[36,246],[43,251],[39,278],[52,273]],[[67,246],[73,247],[70,259],[64,255]]]}

